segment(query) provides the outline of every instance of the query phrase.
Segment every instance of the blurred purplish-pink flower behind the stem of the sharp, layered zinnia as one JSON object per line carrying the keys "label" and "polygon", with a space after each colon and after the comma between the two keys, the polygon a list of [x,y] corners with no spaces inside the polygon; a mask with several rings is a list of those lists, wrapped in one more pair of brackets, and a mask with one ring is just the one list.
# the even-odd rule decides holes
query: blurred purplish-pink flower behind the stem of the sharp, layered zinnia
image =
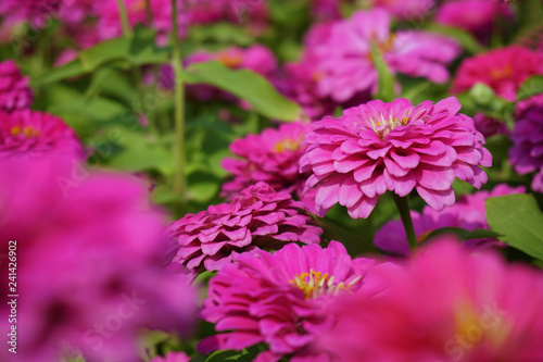
{"label": "blurred purplish-pink flower behind the stem of the sharp, layered zinnia", "polygon": [[[425,241],[428,235],[441,227],[462,227],[467,230],[476,228],[488,229],[484,201],[488,198],[510,194],[523,194],[523,187],[497,185],[492,191],[478,191],[465,195],[454,205],[438,212],[429,207],[421,213],[412,211],[413,226],[419,242]],[[409,245],[401,221],[389,221],[375,235],[374,242],[382,250],[401,255],[409,254]],[[503,246],[497,239],[470,239],[463,242],[468,249],[482,249],[492,246]]]}

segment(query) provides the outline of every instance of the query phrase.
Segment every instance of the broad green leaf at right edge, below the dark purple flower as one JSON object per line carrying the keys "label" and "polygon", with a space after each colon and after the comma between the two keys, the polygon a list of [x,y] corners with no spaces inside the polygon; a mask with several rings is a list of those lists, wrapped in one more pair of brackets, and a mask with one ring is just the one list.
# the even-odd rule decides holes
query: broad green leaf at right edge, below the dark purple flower
{"label": "broad green leaf at right edge, below the dark purple flower", "polygon": [[543,214],[535,199],[526,194],[487,199],[490,227],[504,236],[500,240],[543,260]]}

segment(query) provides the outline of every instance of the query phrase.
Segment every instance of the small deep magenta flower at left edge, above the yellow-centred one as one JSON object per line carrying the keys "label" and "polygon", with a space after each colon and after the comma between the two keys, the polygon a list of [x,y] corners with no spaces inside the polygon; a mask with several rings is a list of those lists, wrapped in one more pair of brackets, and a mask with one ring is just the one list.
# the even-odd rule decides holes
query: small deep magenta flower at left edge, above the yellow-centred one
{"label": "small deep magenta flower at left edge, above the yellow-centred one", "polygon": [[34,100],[28,77],[21,74],[13,60],[0,62],[0,111],[12,112],[30,108]]}

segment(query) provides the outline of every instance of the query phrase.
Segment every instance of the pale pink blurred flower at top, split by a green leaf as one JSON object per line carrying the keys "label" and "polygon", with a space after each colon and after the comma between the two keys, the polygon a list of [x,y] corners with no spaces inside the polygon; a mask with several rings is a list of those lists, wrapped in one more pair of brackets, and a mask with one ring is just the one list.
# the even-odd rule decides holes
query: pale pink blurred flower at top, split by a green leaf
{"label": "pale pink blurred flower at top, split by a green leaf", "polygon": [[377,70],[371,42],[393,73],[445,83],[445,65],[459,53],[453,40],[420,30],[391,33],[391,16],[382,9],[358,11],[334,23],[320,43],[307,45],[318,68],[317,93],[344,102],[361,91],[376,91]]}

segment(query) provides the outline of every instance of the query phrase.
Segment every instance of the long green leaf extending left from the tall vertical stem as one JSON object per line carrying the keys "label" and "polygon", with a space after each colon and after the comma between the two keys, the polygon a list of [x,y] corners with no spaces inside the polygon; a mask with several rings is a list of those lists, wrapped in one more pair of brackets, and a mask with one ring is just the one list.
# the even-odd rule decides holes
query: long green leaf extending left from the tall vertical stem
{"label": "long green leaf extending left from the tall vertical stem", "polygon": [[136,27],[129,38],[122,37],[97,43],[79,52],[76,60],[53,68],[36,83],[40,85],[91,73],[109,63],[127,64],[129,67],[143,64],[163,64],[168,61],[169,49],[157,48],[156,33],[150,28]]}

